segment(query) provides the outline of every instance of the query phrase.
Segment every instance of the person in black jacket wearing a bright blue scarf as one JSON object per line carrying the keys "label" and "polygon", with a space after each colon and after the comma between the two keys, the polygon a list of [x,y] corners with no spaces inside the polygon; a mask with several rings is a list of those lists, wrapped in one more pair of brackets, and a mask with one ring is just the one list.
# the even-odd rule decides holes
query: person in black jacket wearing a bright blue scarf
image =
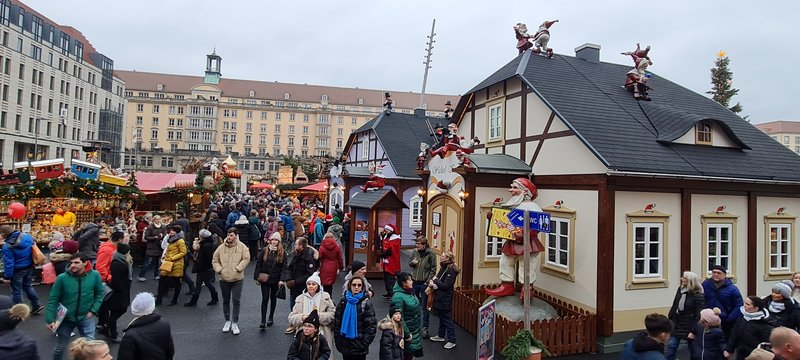
{"label": "person in black jacket wearing a bright blue scarf", "polygon": [[364,292],[366,281],[353,276],[347,282],[347,291],[336,306],[333,334],[336,350],[343,360],[365,360],[369,345],[375,339],[377,318],[375,308]]}

